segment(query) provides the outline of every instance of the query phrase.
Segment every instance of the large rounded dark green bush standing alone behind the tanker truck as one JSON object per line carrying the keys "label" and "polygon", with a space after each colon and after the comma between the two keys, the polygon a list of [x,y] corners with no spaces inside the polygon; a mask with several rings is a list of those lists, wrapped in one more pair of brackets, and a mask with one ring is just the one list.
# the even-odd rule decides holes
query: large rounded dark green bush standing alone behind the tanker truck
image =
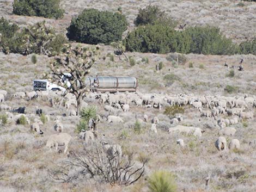
{"label": "large rounded dark green bush standing alone behind the tanker truck", "polygon": [[72,18],[66,35],[77,42],[109,45],[120,41],[126,29],[126,18],[120,13],[84,9],[78,17]]}

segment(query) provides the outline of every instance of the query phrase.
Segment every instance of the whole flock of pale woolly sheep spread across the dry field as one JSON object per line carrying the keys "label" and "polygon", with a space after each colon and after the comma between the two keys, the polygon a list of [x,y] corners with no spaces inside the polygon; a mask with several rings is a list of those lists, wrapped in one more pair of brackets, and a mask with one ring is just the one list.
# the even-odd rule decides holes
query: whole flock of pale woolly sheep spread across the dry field
{"label": "whole flock of pale woolly sheep spread across the dry field", "polygon": [[[42,110],[35,108],[35,114],[25,114],[25,108],[23,111],[13,109],[12,107],[4,104],[5,97],[7,97],[7,91],[0,90],[0,110],[5,111],[8,116],[8,121],[17,123],[21,116],[24,116],[26,123],[31,126],[31,131],[43,134],[41,122],[39,116],[42,114]],[[52,107],[63,106],[67,110],[69,116],[76,116],[77,102],[75,96],[72,94],[62,95],[58,91],[32,91],[32,92],[16,92],[12,95],[16,99],[25,99],[27,101],[40,98],[47,98],[48,102],[51,103]],[[108,123],[124,123],[124,120],[119,116],[121,113],[129,112],[130,108],[141,107],[145,109],[156,108],[161,110],[162,107],[167,106],[191,106],[194,110],[200,113],[200,119],[207,118],[212,120],[215,127],[219,127],[219,137],[216,141],[216,147],[218,150],[227,150],[227,141],[224,136],[234,136],[236,129],[231,127],[239,123],[242,119],[253,119],[253,108],[256,108],[256,97],[255,96],[196,96],[193,94],[180,94],[180,95],[163,95],[163,94],[142,94],[141,92],[116,92],[110,94],[109,92],[89,92],[84,98],[82,107],[87,107],[87,102],[98,103],[108,113],[107,116],[97,115],[97,120],[90,119],[88,122],[87,131],[82,130],[78,134],[78,137],[83,139],[86,144],[90,141],[94,141],[99,138],[96,131],[96,123],[103,121],[104,119]],[[147,110],[146,110],[147,111]],[[18,112],[18,113],[17,113]],[[38,115],[36,115],[38,114]],[[50,120],[51,114],[46,114],[47,120]],[[224,118],[225,116],[225,118]],[[33,122],[31,123],[31,119]],[[135,119],[140,122],[148,122],[149,117],[146,113],[141,116],[135,116]],[[168,133],[185,133],[192,134],[196,137],[201,137],[204,130],[199,127],[183,126],[180,122],[183,121],[182,114],[176,114],[170,119],[170,125]],[[0,122],[1,123],[1,122]],[[159,124],[159,118],[157,116],[152,117],[150,131],[157,133],[157,124]],[[72,139],[71,135],[64,133],[64,126],[60,117],[55,117],[53,129],[56,134],[48,137],[46,147],[55,147],[56,151],[60,146],[64,146],[64,153],[68,152],[69,143]],[[255,141],[252,141],[255,143]],[[109,145],[104,141],[101,141],[102,145],[106,148],[109,154],[121,154],[120,145]],[[181,147],[184,147],[184,140],[178,139],[176,141]],[[240,142],[237,139],[232,139],[229,144],[230,149],[240,148]]]}

